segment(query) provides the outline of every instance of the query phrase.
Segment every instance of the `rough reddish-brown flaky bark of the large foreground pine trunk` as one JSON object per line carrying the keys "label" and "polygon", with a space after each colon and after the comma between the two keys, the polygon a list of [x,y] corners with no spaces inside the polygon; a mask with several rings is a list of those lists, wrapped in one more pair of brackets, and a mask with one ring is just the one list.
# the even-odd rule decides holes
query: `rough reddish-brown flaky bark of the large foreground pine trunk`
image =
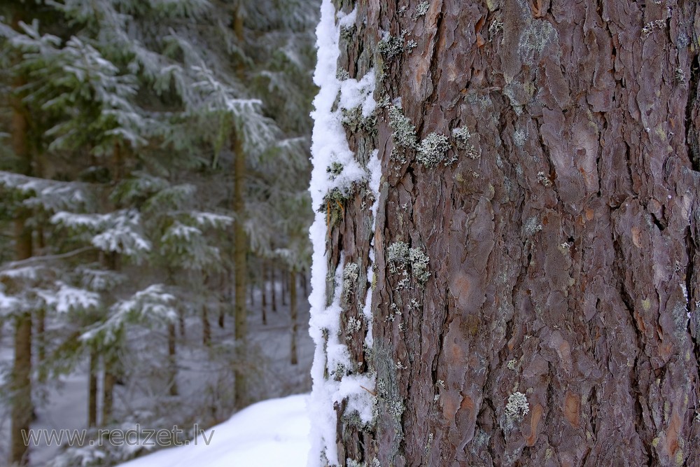
{"label": "rough reddish-brown flaky bark of the large foreground pine trunk", "polygon": [[[348,338],[378,415],[337,406],[340,461],[700,465],[700,7],[420,3],[336,2],[357,7],[339,69],[383,69],[377,101],[450,146],[433,167],[395,148],[390,105],[348,128],[384,176],[374,232],[363,190],[330,227],[329,270],[366,270],[372,234],[376,258],[373,349]],[[396,242],[430,258],[425,284]]]}

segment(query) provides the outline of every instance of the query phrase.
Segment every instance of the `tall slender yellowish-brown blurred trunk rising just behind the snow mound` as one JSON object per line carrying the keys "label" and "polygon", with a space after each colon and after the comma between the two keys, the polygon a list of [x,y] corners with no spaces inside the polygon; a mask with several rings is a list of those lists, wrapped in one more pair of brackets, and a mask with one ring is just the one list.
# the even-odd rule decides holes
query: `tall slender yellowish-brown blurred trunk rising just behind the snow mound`
{"label": "tall slender yellowish-brown blurred trunk rising just behind the snow mound", "polygon": [[248,268],[246,266],[246,253],[248,252],[248,240],[244,230],[243,218],[245,216],[244,204],[244,183],[246,176],[246,155],[243,151],[243,144],[234,135],[233,152],[235,157],[235,173],[233,176],[233,210],[237,215],[234,225],[234,251],[233,263],[235,267],[235,338],[239,349],[239,364],[235,370],[235,405],[243,407],[247,399],[246,374],[245,374],[245,352],[246,340],[248,337],[248,311],[246,308],[246,277]]}

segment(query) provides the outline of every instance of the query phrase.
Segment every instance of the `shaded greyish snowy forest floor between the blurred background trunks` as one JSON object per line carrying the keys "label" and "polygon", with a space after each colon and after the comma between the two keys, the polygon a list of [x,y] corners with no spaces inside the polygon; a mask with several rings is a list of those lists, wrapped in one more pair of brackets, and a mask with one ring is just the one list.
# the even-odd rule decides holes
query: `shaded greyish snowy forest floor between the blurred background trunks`
{"label": "shaded greyish snowy forest floor between the blurred background trunks", "polygon": [[[278,311],[270,311],[267,306],[267,325],[261,320],[260,291],[255,290],[255,302],[251,305],[248,298],[248,335],[250,337],[253,358],[251,358],[251,401],[279,398],[290,394],[308,392],[311,389],[309,370],[314,354],[314,345],[309,337],[309,304],[302,294],[297,303],[298,333],[297,348],[299,363],[290,364],[290,310],[289,305],[281,305],[279,294],[281,287],[277,284]],[[219,328],[218,316],[209,316],[211,321],[211,340],[214,343],[210,353],[202,351],[202,320],[192,316],[186,320],[186,335],[180,338],[178,347],[178,384],[180,395],[168,398],[164,393],[153,393],[148,384],[139,382],[134,375],[149,375],[158,370],[158,359],[151,356],[152,342],[145,342],[145,336],[134,336],[134,348],[143,344],[141,351],[136,351],[128,368],[132,381],[118,385],[114,396],[114,412],[117,419],[129,419],[139,422],[140,414],[148,414],[153,419],[154,412],[164,419],[172,419],[172,424],[182,420],[200,424],[201,428],[228,420],[231,410],[220,403],[230,398],[231,368],[230,361],[219,358],[222,344],[230,344],[233,339],[233,319],[226,316],[224,328]],[[153,336],[148,340],[153,340]],[[148,347],[151,345],[151,347]],[[131,346],[130,346],[131,347]],[[160,346],[159,348],[163,348]],[[167,348],[167,347],[165,347]],[[255,349],[258,350],[255,350]],[[9,326],[2,329],[0,335],[0,364],[3,374],[7,375],[13,357],[12,334]],[[142,366],[141,366],[142,365]],[[141,368],[139,368],[141,367]],[[162,370],[162,368],[160,368]],[[98,383],[101,385],[101,383]],[[219,400],[221,399],[221,400]],[[81,429],[87,425],[87,361],[82,361],[73,372],[64,375],[58,382],[48,382],[36,392],[36,421],[31,428],[38,429]],[[166,402],[163,403],[163,400]],[[160,406],[160,407],[159,407]],[[222,406],[224,407],[222,409]],[[210,410],[211,407],[211,410]],[[173,412],[180,413],[174,414]],[[9,409],[0,404],[0,459],[7,459],[9,440]],[[169,426],[172,426],[170,424]],[[144,424],[141,423],[143,426]],[[163,424],[163,426],[168,426]],[[187,428],[185,426],[184,428]],[[190,425],[191,428],[191,425]],[[36,445],[31,447],[31,466],[45,465],[59,452],[59,447]]]}

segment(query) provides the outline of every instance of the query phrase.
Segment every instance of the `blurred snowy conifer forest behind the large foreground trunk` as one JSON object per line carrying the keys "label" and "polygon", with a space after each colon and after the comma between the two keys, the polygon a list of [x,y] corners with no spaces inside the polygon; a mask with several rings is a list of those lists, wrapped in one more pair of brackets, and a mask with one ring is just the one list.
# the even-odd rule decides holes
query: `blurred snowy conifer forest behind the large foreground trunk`
{"label": "blurred snowy conifer forest behind the large foreground trunk", "polygon": [[309,390],[318,3],[1,2],[0,464]]}

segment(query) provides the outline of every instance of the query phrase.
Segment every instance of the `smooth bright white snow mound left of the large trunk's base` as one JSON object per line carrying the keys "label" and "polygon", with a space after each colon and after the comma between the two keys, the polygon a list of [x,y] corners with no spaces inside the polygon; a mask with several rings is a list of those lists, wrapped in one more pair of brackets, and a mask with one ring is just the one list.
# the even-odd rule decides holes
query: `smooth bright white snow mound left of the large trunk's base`
{"label": "smooth bright white snow mound left of the large trunk's base", "polygon": [[119,467],[305,467],[310,447],[307,398],[300,394],[263,400],[207,430],[197,445],[162,449]]}

